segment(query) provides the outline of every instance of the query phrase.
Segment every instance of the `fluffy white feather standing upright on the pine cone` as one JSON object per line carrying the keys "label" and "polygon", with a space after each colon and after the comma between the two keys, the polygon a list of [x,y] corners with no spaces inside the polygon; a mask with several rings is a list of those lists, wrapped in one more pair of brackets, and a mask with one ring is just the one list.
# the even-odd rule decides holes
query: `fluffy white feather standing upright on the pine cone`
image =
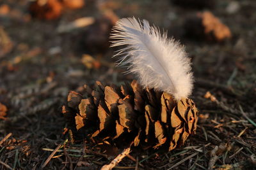
{"label": "fluffy white feather standing upright on the pine cone", "polygon": [[191,63],[184,47],[161,34],[156,27],[136,18],[122,18],[113,27],[112,45],[127,45],[114,55],[119,64],[128,64],[129,73],[138,76],[143,87],[172,94],[175,99],[188,97],[193,89]]}

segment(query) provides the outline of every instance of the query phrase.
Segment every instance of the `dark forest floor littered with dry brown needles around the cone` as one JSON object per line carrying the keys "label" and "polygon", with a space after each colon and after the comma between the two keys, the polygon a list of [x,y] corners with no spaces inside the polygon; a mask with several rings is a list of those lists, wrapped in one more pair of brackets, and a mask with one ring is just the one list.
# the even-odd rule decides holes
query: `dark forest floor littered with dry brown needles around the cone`
{"label": "dark forest floor littered with dry brown needles around the cone", "polygon": [[[0,169],[100,169],[122,152],[106,153],[86,140],[70,143],[61,113],[70,90],[134,78],[111,58],[104,25],[109,13],[112,20],[145,18],[186,46],[195,76],[191,99],[200,110],[196,134],[184,146],[171,152],[132,148],[115,169],[255,169],[256,1],[216,0],[201,9],[170,0],[85,2],[40,20],[31,17],[28,0],[0,1],[0,37],[4,32],[7,42],[0,38],[0,103],[8,110],[0,115]],[[232,38],[219,42],[188,33],[188,18],[205,10],[227,25]],[[95,18],[96,26],[60,32],[60,25],[81,17]],[[207,92],[216,100],[205,98]]]}

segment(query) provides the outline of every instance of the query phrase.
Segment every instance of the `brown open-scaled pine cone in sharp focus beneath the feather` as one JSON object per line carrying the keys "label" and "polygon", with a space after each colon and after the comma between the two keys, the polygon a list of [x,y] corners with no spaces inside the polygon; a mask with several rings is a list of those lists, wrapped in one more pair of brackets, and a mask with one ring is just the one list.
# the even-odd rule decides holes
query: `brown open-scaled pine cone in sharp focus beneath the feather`
{"label": "brown open-scaled pine cone in sharp focus beneath the feather", "polygon": [[191,99],[175,101],[166,92],[143,90],[137,81],[121,87],[104,87],[99,81],[93,88],[84,85],[68,94],[62,112],[76,140],[89,136],[116,146],[134,143],[169,150],[195,134],[198,120]]}

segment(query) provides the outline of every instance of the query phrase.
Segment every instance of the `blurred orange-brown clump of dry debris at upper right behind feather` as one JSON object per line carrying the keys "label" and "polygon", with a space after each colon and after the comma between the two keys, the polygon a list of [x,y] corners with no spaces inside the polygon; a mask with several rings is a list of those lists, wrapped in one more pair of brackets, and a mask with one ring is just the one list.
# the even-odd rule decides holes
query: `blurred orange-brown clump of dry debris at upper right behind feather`
{"label": "blurred orange-brown clump of dry debris at upper right behind feather", "polygon": [[186,20],[185,29],[191,36],[202,37],[209,41],[224,41],[232,37],[230,29],[210,11],[197,13]]}

